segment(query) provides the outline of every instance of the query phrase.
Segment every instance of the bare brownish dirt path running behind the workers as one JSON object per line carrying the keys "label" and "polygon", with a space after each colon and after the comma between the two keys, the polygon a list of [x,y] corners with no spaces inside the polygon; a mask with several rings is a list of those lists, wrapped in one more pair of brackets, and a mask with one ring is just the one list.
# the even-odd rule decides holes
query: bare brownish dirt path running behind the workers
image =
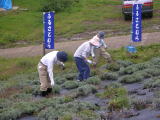
{"label": "bare brownish dirt path running behind the workers", "polygon": [[[160,43],[160,32],[144,33],[142,37],[143,37],[142,42],[137,43],[137,45],[149,45],[153,43]],[[86,40],[59,42],[55,43],[55,48],[58,50],[64,50],[73,53],[76,50],[76,48],[84,41]],[[130,35],[106,38],[106,43],[108,44],[110,49],[124,47],[126,45],[129,45]],[[46,50],[46,52],[49,51],[51,50]],[[0,49],[0,56],[7,58],[38,56],[42,54],[43,54],[42,45],[21,47],[21,48]]]}

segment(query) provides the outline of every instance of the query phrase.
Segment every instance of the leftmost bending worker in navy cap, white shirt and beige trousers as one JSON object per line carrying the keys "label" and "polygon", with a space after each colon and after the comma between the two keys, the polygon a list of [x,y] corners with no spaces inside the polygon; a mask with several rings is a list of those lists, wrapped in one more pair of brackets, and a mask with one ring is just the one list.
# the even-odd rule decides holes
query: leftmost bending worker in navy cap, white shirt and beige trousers
{"label": "leftmost bending worker in navy cap, white shirt and beige trousers", "polygon": [[68,55],[64,51],[52,51],[41,58],[37,68],[41,83],[41,96],[46,96],[52,91],[52,86],[54,86],[54,64],[59,64],[64,68],[63,62],[66,62],[67,59]]}

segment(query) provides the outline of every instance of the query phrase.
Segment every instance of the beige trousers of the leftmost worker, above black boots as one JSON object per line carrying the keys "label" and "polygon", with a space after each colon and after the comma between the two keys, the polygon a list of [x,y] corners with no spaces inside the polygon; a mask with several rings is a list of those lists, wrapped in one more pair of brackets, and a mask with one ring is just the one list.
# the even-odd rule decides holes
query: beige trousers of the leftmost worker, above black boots
{"label": "beige trousers of the leftmost worker, above black boots", "polygon": [[41,62],[38,63],[38,73],[40,79],[40,91],[47,91],[47,88],[52,88],[51,81],[48,76],[47,66],[42,64]]}

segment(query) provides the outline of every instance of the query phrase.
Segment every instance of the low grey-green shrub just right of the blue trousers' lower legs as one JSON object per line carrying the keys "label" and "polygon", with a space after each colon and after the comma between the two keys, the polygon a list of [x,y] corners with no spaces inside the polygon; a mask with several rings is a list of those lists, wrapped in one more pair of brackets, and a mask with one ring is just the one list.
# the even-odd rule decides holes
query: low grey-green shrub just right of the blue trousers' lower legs
{"label": "low grey-green shrub just right of the blue trousers' lower legs", "polygon": [[101,80],[117,80],[118,79],[117,73],[112,73],[112,72],[106,72],[102,74],[100,77],[101,77]]}

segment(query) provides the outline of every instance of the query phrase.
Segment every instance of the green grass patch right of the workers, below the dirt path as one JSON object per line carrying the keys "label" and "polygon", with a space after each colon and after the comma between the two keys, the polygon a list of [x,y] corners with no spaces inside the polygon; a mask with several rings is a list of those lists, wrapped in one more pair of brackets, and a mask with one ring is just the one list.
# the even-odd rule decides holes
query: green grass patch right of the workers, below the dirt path
{"label": "green grass patch right of the workers, below the dirt path", "polygon": [[129,54],[127,49],[121,48],[118,50],[111,50],[110,54],[114,60],[128,60],[133,63],[140,63],[150,60],[153,57],[160,55],[160,44],[152,44],[149,46],[139,46],[136,47],[137,52]]}

